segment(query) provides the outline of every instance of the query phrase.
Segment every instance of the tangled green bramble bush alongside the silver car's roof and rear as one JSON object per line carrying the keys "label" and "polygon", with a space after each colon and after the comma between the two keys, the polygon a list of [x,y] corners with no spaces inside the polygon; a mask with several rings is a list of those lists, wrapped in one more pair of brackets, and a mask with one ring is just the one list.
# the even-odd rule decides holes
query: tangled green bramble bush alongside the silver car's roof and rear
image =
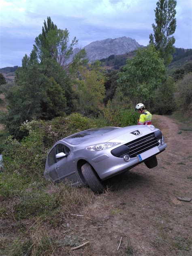
{"label": "tangled green bramble bush alongside the silver car's roof and rear", "polygon": [[[77,113],[68,117],[56,117],[47,122],[39,120],[23,123],[21,129],[27,130],[29,135],[20,142],[9,136],[4,142],[2,175],[5,176],[2,194],[17,194],[15,190],[22,190],[26,182],[43,183],[45,161],[51,146],[70,134],[93,127],[96,127],[93,119]],[[15,181],[12,182],[9,176]]]}

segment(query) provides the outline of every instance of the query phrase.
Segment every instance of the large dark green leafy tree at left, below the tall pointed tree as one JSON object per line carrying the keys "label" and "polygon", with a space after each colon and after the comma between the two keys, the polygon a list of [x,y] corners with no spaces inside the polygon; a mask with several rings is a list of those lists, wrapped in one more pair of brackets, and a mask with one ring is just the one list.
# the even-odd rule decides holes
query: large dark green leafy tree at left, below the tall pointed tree
{"label": "large dark green leafy tree at left, below the tall pointed tree", "polygon": [[62,86],[65,71],[53,59],[32,64],[25,55],[23,66],[16,71],[15,83],[6,93],[8,113],[2,115],[3,123],[10,134],[21,138],[26,134],[19,126],[26,120],[52,119],[66,112],[66,96]]}

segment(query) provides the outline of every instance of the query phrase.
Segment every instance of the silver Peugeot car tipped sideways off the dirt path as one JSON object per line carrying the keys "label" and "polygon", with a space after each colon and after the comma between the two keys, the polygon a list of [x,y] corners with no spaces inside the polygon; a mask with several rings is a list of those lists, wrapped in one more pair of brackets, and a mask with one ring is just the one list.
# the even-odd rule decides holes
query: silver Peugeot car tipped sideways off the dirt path
{"label": "silver Peugeot car tipped sideways off the dirt path", "polygon": [[144,162],[157,166],[156,155],[166,148],[162,132],[153,125],[84,130],[60,141],[49,151],[44,176],[54,182],[67,179],[88,185],[95,193],[103,181]]}

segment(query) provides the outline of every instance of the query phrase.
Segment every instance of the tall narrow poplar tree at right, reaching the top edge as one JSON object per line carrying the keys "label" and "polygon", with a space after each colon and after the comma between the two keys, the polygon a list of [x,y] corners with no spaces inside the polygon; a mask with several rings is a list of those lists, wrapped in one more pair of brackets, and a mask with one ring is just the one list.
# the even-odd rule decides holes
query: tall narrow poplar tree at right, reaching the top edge
{"label": "tall narrow poplar tree at right, reaching the top edge", "polygon": [[175,38],[171,35],[176,29],[176,4],[176,0],[158,0],[156,10],[154,10],[156,25],[152,24],[154,35],[149,35],[149,43],[155,45],[166,66],[171,63],[175,51],[173,46]]}

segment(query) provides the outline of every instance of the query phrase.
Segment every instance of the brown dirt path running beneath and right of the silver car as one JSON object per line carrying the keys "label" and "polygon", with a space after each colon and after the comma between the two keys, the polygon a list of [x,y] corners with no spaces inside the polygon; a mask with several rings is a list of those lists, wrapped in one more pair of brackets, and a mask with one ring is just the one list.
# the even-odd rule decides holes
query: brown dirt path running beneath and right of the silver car
{"label": "brown dirt path running beneath and right of the silver car", "polygon": [[168,144],[158,166],[143,163],[108,181],[109,192],[97,196],[79,221],[78,233],[91,243],[71,255],[192,255],[192,201],[177,200],[192,197],[192,132],[168,117],[158,119]]}

